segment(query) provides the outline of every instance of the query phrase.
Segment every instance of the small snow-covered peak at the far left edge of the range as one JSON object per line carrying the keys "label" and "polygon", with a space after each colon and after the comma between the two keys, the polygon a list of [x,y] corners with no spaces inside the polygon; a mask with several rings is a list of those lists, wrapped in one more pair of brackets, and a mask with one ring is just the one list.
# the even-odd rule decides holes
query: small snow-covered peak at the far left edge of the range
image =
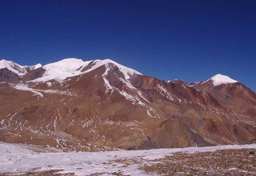
{"label": "small snow-covered peak at the far left edge of the range", "polygon": [[20,66],[17,63],[11,61],[6,61],[5,59],[2,59],[0,61],[0,69],[3,68],[6,68],[18,75],[26,74],[26,69],[24,68],[24,66]]}

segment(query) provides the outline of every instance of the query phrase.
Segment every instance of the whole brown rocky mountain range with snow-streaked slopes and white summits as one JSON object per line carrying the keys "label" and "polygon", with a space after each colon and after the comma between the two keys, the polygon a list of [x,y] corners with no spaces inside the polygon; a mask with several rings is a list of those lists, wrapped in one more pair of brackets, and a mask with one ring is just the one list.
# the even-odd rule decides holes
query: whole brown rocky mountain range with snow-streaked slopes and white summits
{"label": "whole brown rocky mountain range with snow-streaked slopes and white summits", "polygon": [[3,142],[114,150],[240,144],[256,138],[256,96],[225,76],[164,82],[110,59],[69,58],[20,68],[22,74],[0,64]]}

